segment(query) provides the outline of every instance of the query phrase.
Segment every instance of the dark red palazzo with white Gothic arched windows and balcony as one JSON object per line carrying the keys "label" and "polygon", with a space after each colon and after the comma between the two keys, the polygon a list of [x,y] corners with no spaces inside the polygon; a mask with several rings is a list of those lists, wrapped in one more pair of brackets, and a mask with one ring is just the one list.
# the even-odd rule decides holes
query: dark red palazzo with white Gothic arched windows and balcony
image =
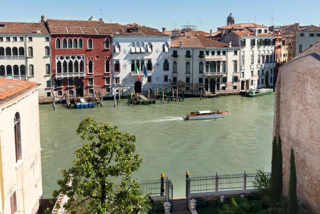
{"label": "dark red palazzo with white Gothic arched windows and balcony", "polygon": [[52,81],[57,96],[108,94],[111,88],[111,31],[101,21],[47,20],[51,34]]}

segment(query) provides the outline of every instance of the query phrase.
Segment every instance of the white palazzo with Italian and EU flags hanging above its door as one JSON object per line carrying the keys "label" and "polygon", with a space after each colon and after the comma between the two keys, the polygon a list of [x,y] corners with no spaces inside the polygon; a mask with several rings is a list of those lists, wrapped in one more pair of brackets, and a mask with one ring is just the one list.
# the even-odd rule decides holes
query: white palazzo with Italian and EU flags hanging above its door
{"label": "white palazzo with Italian and EU flags hanging above its door", "polygon": [[[123,88],[127,94],[131,90],[152,92],[156,88],[169,87],[170,36],[159,30],[136,23],[128,25],[108,24],[113,31],[113,90]],[[141,82],[134,72],[137,66]],[[146,66],[148,78],[143,73]]]}

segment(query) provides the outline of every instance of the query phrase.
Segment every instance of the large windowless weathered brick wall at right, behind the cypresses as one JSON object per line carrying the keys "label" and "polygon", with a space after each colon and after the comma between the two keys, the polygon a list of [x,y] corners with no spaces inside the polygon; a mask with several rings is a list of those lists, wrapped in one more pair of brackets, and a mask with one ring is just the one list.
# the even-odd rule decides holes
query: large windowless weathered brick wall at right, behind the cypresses
{"label": "large windowless weathered brick wall at right, behind the cypresses", "polygon": [[279,68],[274,135],[282,138],[283,193],[288,194],[293,148],[300,203],[320,213],[320,43]]}

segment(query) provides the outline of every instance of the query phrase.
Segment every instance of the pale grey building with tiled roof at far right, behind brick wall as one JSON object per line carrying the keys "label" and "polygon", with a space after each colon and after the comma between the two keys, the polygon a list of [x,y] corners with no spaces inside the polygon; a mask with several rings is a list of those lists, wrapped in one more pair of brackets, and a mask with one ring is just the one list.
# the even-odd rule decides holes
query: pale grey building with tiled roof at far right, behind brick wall
{"label": "pale grey building with tiled roof at far right, behind brick wall", "polygon": [[320,27],[308,25],[294,32],[293,56],[298,56],[320,40]]}

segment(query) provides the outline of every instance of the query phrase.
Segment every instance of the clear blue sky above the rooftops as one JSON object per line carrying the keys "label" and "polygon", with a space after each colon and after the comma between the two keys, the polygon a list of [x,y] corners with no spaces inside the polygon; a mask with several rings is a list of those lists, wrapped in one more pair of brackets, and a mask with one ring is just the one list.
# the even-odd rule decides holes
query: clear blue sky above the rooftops
{"label": "clear blue sky above the rooftops", "polygon": [[[89,2],[89,4],[88,4]],[[300,25],[319,26],[320,6],[315,1],[2,1],[0,21],[37,22],[42,14],[50,19],[88,20],[92,16],[98,20],[100,9],[103,20],[128,24],[136,22],[157,29],[181,28],[181,25],[199,26],[198,30],[215,32],[217,27],[226,24],[232,12],[236,23],[254,22],[270,26],[271,14],[274,25],[299,22]],[[74,13],[74,14],[73,14]],[[201,23],[201,24],[200,24]]]}

